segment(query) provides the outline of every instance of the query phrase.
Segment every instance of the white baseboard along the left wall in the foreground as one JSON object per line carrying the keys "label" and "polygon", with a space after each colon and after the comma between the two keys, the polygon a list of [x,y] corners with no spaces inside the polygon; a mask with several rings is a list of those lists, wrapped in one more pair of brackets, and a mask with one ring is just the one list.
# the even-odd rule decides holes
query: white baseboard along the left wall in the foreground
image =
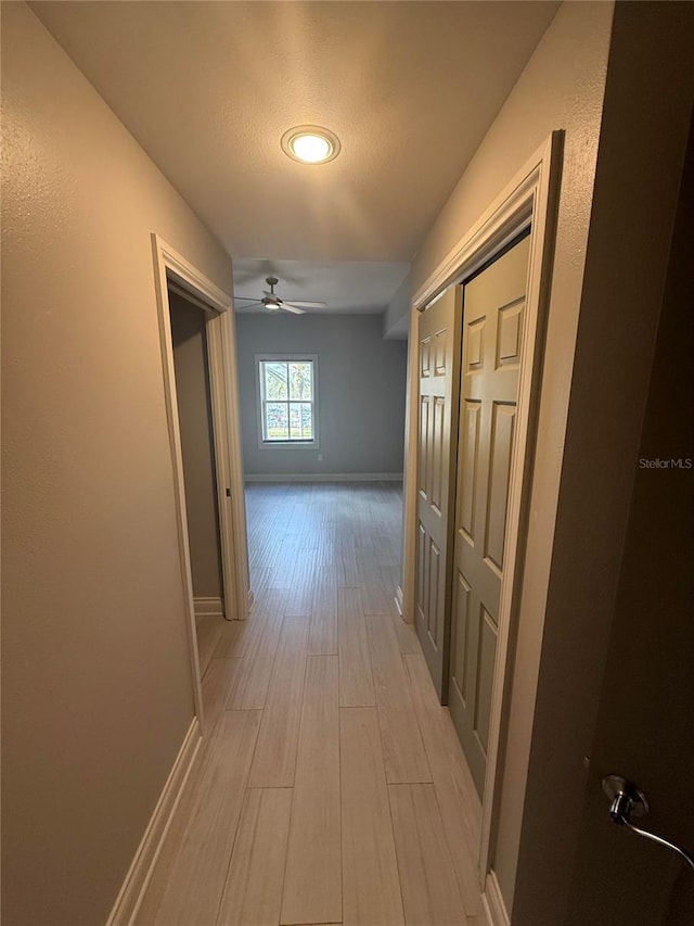
{"label": "white baseboard along the left wall in the foreground", "polygon": [[197,757],[200,744],[200,722],[194,718],[134,853],[106,926],[130,926],[134,922],[181,792]]}

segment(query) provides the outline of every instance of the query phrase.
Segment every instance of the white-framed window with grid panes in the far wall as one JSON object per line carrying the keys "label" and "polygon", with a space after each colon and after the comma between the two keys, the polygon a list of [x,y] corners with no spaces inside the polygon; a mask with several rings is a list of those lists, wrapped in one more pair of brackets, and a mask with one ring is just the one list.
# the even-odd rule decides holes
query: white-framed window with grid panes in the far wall
{"label": "white-framed window with grid panes in the far wall", "polygon": [[256,357],[260,446],[318,446],[316,357]]}

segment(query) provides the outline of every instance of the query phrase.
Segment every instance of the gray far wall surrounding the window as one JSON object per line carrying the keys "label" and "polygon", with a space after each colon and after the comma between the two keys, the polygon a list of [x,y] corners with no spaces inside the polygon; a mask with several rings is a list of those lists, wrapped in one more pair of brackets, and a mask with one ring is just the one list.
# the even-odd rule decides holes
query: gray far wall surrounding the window
{"label": "gray far wall surrounding the window", "polygon": [[[380,315],[242,315],[236,334],[247,475],[402,472],[407,343]],[[292,351],[318,355],[320,447],[260,449],[255,355]]]}

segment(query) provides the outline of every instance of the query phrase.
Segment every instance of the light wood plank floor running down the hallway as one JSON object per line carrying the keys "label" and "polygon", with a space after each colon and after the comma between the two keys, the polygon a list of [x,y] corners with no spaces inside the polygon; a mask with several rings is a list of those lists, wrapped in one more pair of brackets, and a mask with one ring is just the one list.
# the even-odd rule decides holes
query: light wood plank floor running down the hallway
{"label": "light wood plank floor running down the hallway", "polygon": [[256,604],[198,627],[207,732],[136,926],[483,926],[479,801],[395,607],[400,486],[246,504]]}

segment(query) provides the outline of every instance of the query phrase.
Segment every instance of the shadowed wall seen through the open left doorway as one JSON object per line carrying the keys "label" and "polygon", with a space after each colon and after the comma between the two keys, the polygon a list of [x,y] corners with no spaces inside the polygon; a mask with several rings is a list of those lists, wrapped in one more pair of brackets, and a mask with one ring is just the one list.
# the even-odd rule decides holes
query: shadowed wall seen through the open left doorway
{"label": "shadowed wall seen through the open left doorway", "polygon": [[185,513],[195,598],[222,598],[205,313],[169,293]]}

